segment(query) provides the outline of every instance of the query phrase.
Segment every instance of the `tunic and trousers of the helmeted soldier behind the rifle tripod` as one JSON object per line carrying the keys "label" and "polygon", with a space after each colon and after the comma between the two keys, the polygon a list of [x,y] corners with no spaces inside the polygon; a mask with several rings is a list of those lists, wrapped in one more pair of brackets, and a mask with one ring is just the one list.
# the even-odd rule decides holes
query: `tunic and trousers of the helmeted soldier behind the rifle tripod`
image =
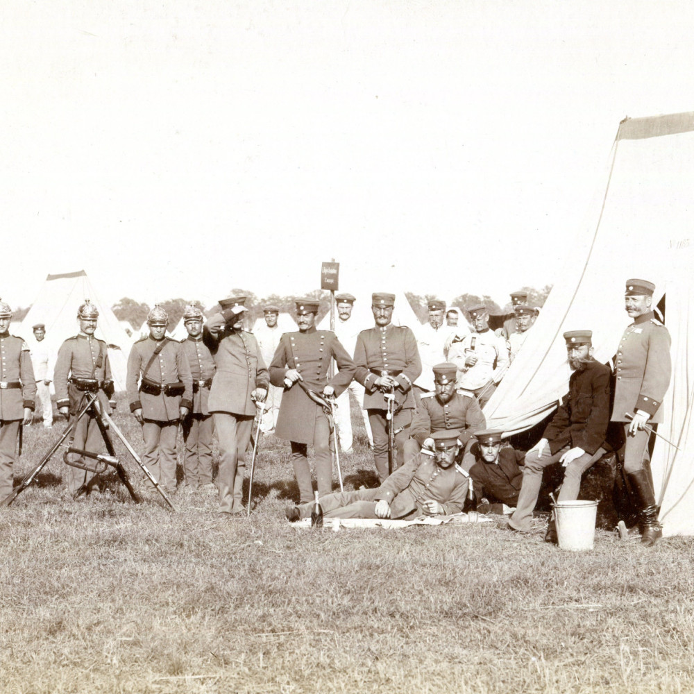
{"label": "tunic and trousers of the helmeted soldier behind the rifle tripod", "polygon": [[[108,346],[103,340],[80,332],[75,337],[65,340],[58,350],[56,369],[53,373],[58,409],[69,407],[70,421],[74,421],[90,393],[79,389],[71,379],[99,381],[99,403],[104,411],[108,412],[108,398],[113,393],[113,380],[108,361]],[[108,394],[105,391],[108,391]],[[76,425],[71,446],[92,452],[105,449],[101,430],[91,412],[85,414]],[[73,462],[85,463],[85,458],[80,455],[70,453],[69,456]],[[94,478],[94,473],[71,466],[67,467],[66,472],[67,487],[71,493],[76,493]]]}

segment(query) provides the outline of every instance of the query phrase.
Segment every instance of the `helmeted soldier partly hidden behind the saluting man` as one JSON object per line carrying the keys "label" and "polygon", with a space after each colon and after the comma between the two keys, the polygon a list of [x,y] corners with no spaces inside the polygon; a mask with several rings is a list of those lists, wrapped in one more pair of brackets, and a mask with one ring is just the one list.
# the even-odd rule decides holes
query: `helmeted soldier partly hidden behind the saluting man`
{"label": "helmeted soldier partly hidden behind the saluting man", "polygon": [[214,376],[214,359],[209,348],[203,342],[203,312],[194,305],[188,305],[183,311],[183,326],[188,337],[183,340],[183,352],[188,359],[190,375],[193,379],[193,407],[181,422],[185,457],[183,474],[185,483],[193,489],[212,484],[212,432],[214,422],[208,408],[212,376]]}

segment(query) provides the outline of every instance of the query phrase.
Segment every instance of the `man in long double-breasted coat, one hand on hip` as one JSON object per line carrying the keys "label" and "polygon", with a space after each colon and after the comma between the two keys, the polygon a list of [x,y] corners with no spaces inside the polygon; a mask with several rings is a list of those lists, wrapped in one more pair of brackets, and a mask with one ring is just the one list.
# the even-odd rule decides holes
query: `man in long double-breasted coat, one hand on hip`
{"label": "man in long double-breasted coat, one hand on hip", "polygon": [[[316,452],[316,482],[321,496],[332,489],[330,424],[325,408],[312,399],[339,396],[350,384],[355,365],[330,330],[316,330],[318,303],[312,299],[296,301],[298,332],[285,332],[270,364],[270,381],[284,386],[275,435],[291,442],[291,462],[301,503],[313,498],[307,446]],[[330,357],[337,373],[328,382]]]}

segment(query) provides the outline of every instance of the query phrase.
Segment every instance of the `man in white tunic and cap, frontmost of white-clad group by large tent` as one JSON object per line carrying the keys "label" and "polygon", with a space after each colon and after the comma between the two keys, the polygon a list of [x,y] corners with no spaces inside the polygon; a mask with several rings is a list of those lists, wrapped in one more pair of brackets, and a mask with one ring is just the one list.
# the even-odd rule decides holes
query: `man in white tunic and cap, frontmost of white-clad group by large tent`
{"label": "man in white tunic and cap, frontmost of white-clad group by large tent", "polygon": [[448,361],[458,367],[457,389],[474,393],[480,407],[486,405],[509,366],[509,348],[503,337],[489,330],[484,304],[468,309],[474,332],[448,350]]}

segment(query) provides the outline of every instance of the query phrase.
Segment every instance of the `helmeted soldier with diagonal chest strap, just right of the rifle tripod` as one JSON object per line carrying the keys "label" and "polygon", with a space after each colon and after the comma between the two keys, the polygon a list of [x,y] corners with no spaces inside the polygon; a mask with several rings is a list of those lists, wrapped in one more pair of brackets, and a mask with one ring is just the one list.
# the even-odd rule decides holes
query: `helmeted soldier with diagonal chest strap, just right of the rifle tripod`
{"label": "helmeted soldier with diagonal chest strap, just right of the rifle tripod", "polygon": [[166,335],[167,312],[155,305],[147,316],[147,325],[149,335],[130,349],[128,401],[130,412],[142,424],[142,462],[164,491],[174,493],[176,432],[179,419],[185,419],[193,406],[193,382],[183,345]]}

